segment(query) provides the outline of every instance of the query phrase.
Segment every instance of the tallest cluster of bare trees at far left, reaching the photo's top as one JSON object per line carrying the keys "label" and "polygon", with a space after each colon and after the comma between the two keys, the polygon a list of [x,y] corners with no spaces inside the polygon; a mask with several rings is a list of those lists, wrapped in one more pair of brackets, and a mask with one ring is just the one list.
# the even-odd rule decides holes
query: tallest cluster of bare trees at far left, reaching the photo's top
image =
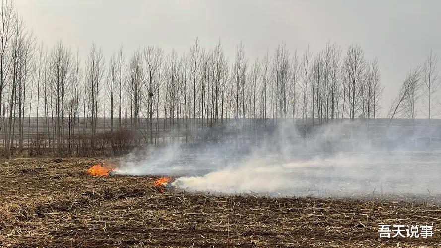
{"label": "tallest cluster of bare trees at far left, reaching the photo's top", "polygon": [[10,1],[1,2],[0,18],[0,127],[8,156],[16,132],[17,146],[23,147],[24,120],[33,97],[35,36]]}

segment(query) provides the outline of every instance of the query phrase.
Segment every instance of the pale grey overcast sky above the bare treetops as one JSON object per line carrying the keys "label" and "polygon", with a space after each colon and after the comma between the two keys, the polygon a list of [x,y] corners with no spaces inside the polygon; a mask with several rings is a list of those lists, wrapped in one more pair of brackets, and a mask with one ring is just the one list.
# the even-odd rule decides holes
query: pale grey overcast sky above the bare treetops
{"label": "pale grey overcast sky above the bare treetops", "polygon": [[198,36],[207,48],[220,38],[230,61],[243,41],[253,61],[279,42],[298,53],[308,44],[317,52],[327,40],[343,51],[356,42],[367,58],[378,57],[383,112],[410,67],[421,65],[430,49],[441,55],[440,0],[16,0],[15,5],[38,40],[51,48],[61,39],[81,55],[93,41],[107,57],[121,44],[127,54],[150,44],[182,53]]}

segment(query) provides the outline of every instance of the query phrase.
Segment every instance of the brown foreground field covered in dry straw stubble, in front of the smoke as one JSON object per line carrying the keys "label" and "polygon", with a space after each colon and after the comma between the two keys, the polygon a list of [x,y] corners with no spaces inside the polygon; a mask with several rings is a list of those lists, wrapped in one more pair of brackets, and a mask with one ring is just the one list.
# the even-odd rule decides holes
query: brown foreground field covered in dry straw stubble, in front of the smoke
{"label": "brown foreground field covered in dry straw stubble, in front of the smoke", "polygon": [[[100,159],[0,161],[1,247],[432,247],[438,197],[267,198],[177,192],[157,177],[92,177]],[[379,239],[378,224],[433,223]]]}

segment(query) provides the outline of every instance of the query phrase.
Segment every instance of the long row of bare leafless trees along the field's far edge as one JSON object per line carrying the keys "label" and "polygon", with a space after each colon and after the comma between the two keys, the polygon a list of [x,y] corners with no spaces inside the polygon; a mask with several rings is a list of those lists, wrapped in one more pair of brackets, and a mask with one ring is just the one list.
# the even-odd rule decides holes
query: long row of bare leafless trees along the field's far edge
{"label": "long row of bare leafless trees along the field's far edge", "polygon": [[[1,1],[0,18],[0,126],[6,157],[31,146],[37,154],[96,155],[99,146],[124,153],[157,145],[161,132],[193,142],[189,133],[227,123],[256,130],[297,120],[306,132],[308,123],[378,118],[381,108],[378,61],[366,57],[358,44],[342,49],[327,42],[316,53],[280,44],[250,61],[243,43],[231,60],[221,41],[203,48],[198,38],[187,52],[166,54],[147,45],[126,56],[120,47],[108,58],[93,43],[87,57],[80,58],[62,41],[49,49],[38,44],[11,1]],[[424,69],[409,73],[390,116],[414,118],[416,89],[425,88],[430,117],[438,84],[431,54]],[[97,129],[100,117],[108,117],[109,129]]]}

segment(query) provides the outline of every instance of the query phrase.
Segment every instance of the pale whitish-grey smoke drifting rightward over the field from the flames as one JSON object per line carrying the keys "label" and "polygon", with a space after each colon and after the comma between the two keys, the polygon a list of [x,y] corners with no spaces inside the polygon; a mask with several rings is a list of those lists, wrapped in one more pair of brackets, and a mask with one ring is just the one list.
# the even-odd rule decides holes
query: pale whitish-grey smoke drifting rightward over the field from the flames
{"label": "pale whitish-grey smoke drifting rightward over the field from the flames", "polygon": [[435,141],[418,140],[432,133],[424,125],[411,127],[409,134],[401,124],[386,128],[384,120],[378,122],[327,124],[313,135],[287,122],[258,139],[198,148],[174,143],[127,156],[117,173],[178,176],[173,186],[211,193],[441,193],[441,149]]}

